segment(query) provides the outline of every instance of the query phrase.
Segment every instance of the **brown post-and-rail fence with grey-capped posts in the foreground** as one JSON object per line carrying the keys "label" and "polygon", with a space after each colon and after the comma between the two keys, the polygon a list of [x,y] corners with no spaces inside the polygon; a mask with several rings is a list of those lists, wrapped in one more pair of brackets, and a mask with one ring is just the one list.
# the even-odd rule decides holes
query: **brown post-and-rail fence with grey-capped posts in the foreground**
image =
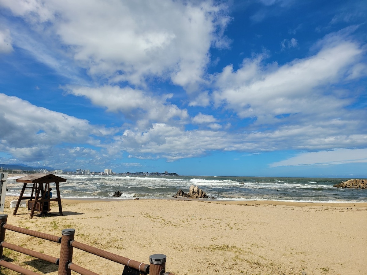
{"label": "brown post-and-rail fence with grey-capped posts in the foreground", "polygon": [[[61,237],[37,232],[14,225],[7,224],[7,214],[0,214],[0,267],[6,267],[13,271],[16,271],[23,275],[39,275],[36,272],[30,271],[18,265],[8,263],[3,260],[3,248],[17,251],[41,260],[47,261],[52,264],[58,265],[58,275],[70,275],[71,271],[75,271],[81,275],[98,275],[86,268],[76,265],[72,262],[73,260],[73,248],[83,250],[85,252],[97,255],[99,257],[111,260],[115,263],[124,265],[123,275],[137,275],[137,274],[150,274],[150,275],[174,275],[171,272],[166,272],[166,255],[163,254],[153,254],[149,257],[150,264],[140,263],[129,258],[119,256],[107,252],[105,250],[86,245],[74,240],[75,229],[64,229],[61,231]],[[49,256],[40,252],[36,252],[30,249],[26,249],[21,246],[17,246],[8,242],[5,242],[5,231],[10,230],[14,232],[19,232],[21,234],[33,236],[40,239],[45,239],[51,242],[57,242],[61,244],[60,247],[60,257]]]}

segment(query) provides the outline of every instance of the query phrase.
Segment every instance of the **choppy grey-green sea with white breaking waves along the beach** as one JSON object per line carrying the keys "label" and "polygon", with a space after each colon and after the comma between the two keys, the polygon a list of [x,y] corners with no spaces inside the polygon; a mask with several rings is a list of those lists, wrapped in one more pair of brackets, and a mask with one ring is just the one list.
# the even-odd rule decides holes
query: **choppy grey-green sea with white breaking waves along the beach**
{"label": "choppy grey-green sea with white breaking waves along the beach", "polygon": [[[23,183],[8,177],[7,195],[19,196]],[[80,199],[172,199],[178,189],[188,192],[198,186],[219,201],[367,202],[367,189],[333,187],[348,179],[302,177],[224,176],[101,176],[59,175],[62,198]],[[28,184],[30,186],[30,184]],[[53,184],[51,183],[51,187]],[[29,190],[29,189],[28,189]],[[28,191],[26,190],[26,192]],[[121,197],[113,197],[120,191]],[[30,195],[30,191],[29,195]],[[55,189],[54,189],[54,192]],[[26,193],[27,194],[27,193]]]}

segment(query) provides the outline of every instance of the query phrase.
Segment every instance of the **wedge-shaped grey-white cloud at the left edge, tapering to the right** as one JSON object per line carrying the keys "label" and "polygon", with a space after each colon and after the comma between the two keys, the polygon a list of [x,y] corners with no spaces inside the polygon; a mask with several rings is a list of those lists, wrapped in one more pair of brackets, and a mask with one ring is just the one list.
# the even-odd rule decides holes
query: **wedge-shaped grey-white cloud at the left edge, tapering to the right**
{"label": "wedge-shaped grey-white cloud at the left edge, tapering to the right", "polygon": [[0,149],[23,160],[44,159],[60,143],[98,145],[94,136],[113,131],[92,127],[87,120],[37,107],[0,94]]}

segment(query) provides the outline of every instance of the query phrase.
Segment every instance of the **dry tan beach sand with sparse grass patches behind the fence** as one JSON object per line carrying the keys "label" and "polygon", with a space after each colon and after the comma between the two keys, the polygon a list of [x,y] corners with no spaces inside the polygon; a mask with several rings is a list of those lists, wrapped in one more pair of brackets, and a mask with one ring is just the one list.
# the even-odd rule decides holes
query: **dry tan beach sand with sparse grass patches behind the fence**
{"label": "dry tan beach sand with sparse grass patches behind the fence", "polygon": [[[57,236],[75,228],[76,241],[148,264],[151,254],[166,254],[166,271],[176,275],[367,274],[367,203],[62,200],[64,216],[29,220],[25,208],[12,215],[11,199],[17,198],[7,198],[8,224]],[[57,243],[9,230],[5,240],[59,257]],[[8,249],[4,255],[39,274],[57,274],[56,265]],[[73,262],[98,274],[123,270],[77,249]]]}

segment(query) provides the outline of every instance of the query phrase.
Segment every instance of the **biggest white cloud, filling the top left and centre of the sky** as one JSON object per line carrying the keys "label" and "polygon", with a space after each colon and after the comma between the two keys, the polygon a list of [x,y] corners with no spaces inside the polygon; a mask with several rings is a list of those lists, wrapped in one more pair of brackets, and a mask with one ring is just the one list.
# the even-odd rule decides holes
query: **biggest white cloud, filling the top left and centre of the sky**
{"label": "biggest white cloud, filling the top left and centre of the sky", "polygon": [[189,88],[203,81],[210,47],[228,46],[223,36],[230,20],[227,7],[210,0],[1,4],[48,40],[59,40],[59,50],[71,54],[92,76],[114,83],[144,85],[146,77],[153,76]]}

